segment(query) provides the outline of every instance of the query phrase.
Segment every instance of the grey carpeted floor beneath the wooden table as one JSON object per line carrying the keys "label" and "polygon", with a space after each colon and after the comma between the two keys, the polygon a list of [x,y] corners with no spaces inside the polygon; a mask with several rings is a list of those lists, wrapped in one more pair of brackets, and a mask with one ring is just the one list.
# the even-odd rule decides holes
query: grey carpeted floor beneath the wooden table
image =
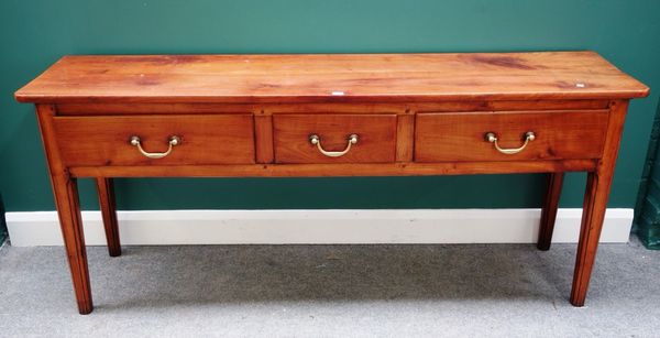
{"label": "grey carpeted floor beneath the wooden table", "polygon": [[88,250],[77,314],[61,247],[0,250],[0,336],[658,337],[660,251],[601,246],[587,306],[575,246],[128,247]]}

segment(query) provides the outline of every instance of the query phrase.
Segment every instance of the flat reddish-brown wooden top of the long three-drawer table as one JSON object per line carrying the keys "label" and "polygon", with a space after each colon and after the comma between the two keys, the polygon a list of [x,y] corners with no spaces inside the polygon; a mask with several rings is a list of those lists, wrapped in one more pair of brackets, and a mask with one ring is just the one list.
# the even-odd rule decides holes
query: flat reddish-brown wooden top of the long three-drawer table
{"label": "flat reddish-brown wooden top of the long three-drawer table", "polygon": [[594,52],[65,56],[21,102],[614,99],[649,88]]}

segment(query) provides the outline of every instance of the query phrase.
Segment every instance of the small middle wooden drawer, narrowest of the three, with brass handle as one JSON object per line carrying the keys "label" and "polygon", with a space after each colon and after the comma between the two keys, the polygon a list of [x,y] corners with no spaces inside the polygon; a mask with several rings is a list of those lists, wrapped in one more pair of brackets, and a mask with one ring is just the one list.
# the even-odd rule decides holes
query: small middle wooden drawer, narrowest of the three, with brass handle
{"label": "small middle wooden drawer, narrowest of the three, with brass handle", "polygon": [[277,163],[394,162],[396,115],[276,115],[273,138]]}

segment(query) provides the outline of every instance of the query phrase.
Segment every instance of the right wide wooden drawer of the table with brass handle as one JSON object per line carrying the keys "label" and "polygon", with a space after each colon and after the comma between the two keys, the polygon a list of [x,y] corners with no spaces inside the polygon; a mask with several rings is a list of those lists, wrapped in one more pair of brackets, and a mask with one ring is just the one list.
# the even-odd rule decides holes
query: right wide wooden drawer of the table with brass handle
{"label": "right wide wooden drawer of the table with brass handle", "polygon": [[[608,110],[418,113],[415,161],[598,159],[608,116]],[[528,132],[534,137],[526,144]]]}

